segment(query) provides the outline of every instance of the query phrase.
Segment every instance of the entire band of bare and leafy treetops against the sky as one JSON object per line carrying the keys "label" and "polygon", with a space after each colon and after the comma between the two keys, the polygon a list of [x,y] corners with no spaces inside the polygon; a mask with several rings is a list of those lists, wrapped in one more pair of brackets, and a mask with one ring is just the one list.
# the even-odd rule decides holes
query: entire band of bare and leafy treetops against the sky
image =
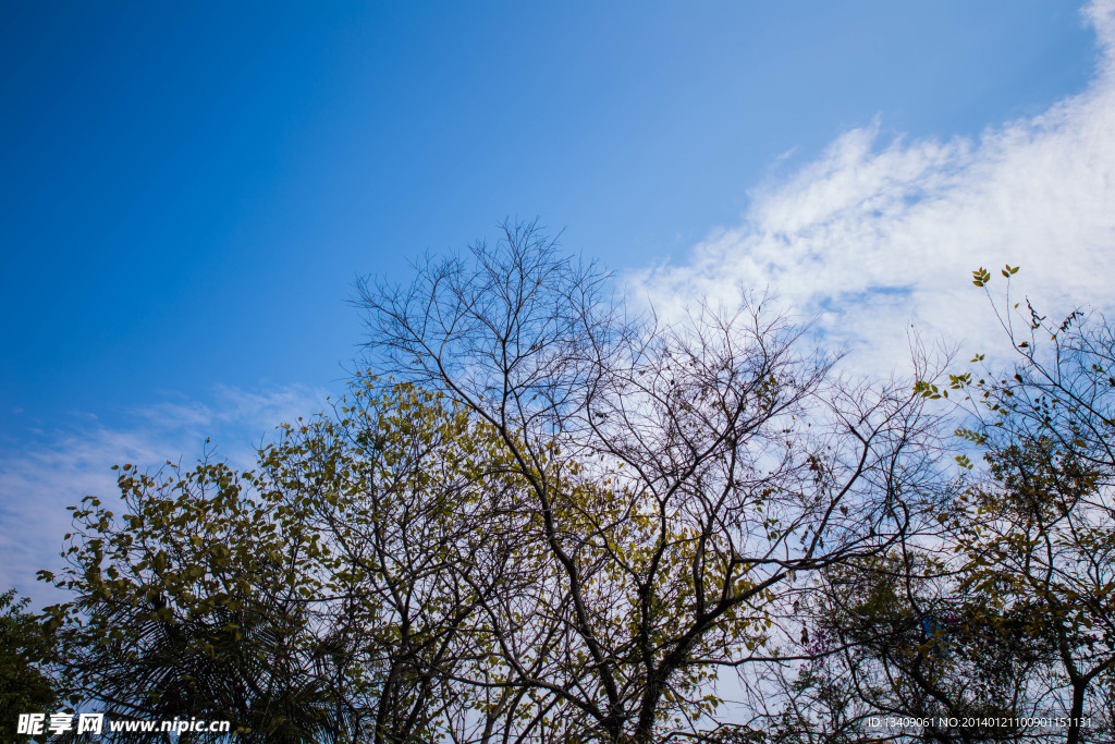
{"label": "entire band of bare and leafy treetops against the sky", "polygon": [[331,412],[74,508],[35,679],[245,742],[1115,740],[1103,318],[879,380],[610,287],[533,224],[362,284]]}

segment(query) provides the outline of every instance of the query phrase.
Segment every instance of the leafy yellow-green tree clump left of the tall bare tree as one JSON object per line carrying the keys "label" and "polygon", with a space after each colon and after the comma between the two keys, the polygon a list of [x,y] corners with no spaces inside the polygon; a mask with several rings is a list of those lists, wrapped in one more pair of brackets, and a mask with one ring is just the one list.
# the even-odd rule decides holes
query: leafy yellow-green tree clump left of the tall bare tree
{"label": "leafy yellow-green tree clump left of the tall bare tree", "polygon": [[46,578],[76,595],[50,608],[76,693],[246,742],[436,737],[465,704],[450,683],[484,586],[457,564],[503,581],[504,544],[463,516],[505,484],[484,429],[435,396],[362,377],[350,396],[283,426],[255,471],[124,465],[119,516],[75,508],[70,566]]}

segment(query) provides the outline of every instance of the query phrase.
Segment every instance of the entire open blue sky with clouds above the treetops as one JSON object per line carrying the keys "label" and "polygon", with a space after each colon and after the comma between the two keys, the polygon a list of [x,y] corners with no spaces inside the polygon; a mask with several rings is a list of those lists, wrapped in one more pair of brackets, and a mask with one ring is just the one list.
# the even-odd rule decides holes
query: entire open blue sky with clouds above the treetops
{"label": "entire open blue sky with clouds above the treetops", "polygon": [[910,319],[978,335],[981,263],[1106,302],[1113,12],[0,3],[0,591],[114,462],[320,408],[353,280],[504,218],[663,307],[769,287],[876,366]]}

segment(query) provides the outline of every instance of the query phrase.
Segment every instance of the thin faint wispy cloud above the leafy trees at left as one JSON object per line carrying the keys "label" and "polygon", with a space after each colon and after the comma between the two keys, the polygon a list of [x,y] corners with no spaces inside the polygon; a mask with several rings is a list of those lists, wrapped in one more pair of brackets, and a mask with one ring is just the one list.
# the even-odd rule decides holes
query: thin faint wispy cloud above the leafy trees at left
{"label": "thin faint wispy cloud above the leafy trees at left", "polygon": [[207,402],[172,399],[136,408],[116,428],[75,416],[66,431],[7,451],[0,455],[0,588],[16,587],[38,600],[51,597],[35,572],[61,564],[67,506],[87,494],[118,495],[112,465],[188,464],[209,448],[234,467],[251,467],[255,448],[278,424],[323,410],[326,397],[324,390],[303,386],[217,387]]}

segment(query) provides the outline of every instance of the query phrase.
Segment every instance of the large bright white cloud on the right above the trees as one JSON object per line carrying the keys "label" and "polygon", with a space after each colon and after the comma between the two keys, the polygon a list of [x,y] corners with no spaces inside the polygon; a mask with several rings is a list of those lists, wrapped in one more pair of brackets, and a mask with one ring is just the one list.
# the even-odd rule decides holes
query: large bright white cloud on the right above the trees
{"label": "large bright white cloud on the right above the trees", "polygon": [[[1102,51],[1087,89],[969,139],[880,143],[840,136],[788,180],[752,192],[743,223],[710,234],[683,265],[630,278],[660,311],[777,292],[876,371],[902,368],[906,331],[999,342],[970,272],[1021,265],[1021,289],[1051,316],[1109,308],[1115,277],[1115,0],[1085,16]],[[991,284],[992,293],[1002,280]]]}

